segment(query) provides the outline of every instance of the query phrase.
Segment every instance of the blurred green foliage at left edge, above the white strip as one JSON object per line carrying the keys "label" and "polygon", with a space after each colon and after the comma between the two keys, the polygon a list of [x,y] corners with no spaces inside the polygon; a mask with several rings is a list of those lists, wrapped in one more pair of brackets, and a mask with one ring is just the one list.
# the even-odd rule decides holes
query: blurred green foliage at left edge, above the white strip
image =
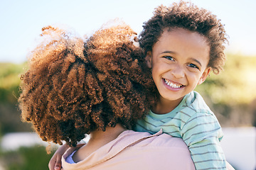
{"label": "blurred green foliage at left edge, above the white strip", "polygon": [[20,75],[24,64],[0,63],[0,135],[7,132],[31,131],[28,123],[22,123],[18,111]]}

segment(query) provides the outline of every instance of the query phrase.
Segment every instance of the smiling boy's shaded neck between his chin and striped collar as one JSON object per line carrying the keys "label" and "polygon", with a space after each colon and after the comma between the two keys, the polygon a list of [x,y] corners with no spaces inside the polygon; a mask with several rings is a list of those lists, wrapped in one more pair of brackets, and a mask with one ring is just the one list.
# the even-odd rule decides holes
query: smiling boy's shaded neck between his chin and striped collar
{"label": "smiling boy's shaded neck between his chin and striped collar", "polygon": [[156,105],[152,108],[153,113],[166,114],[174,110],[181,103],[183,98],[179,98],[176,101],[169,101],[161,96],[158,98]]}

